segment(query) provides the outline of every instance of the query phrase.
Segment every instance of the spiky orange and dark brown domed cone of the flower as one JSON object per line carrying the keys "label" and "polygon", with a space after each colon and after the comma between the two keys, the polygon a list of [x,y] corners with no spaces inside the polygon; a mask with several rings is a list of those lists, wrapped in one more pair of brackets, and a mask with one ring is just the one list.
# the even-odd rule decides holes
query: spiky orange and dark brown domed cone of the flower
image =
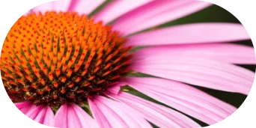
{"label": "spiky orange and dark brown domed cone of the flower", "polygon": [[7,32],[0,78],[13,102],[61,106],[101,95],[129,73],[126,38],[77,13],[31,13]]}

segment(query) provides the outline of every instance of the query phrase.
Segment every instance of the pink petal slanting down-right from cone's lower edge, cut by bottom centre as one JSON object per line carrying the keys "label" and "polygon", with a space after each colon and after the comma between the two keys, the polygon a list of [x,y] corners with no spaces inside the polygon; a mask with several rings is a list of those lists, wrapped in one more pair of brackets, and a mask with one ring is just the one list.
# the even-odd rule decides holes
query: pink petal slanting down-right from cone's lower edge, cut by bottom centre
{"label": "pink petal slanting down-right from cone's lower edge, cut by bottom centre", "polygon": [[[151,127],[150,124],[141,118],[140,115],[124,104],[106,97],[94,97],[88,100],[91,112],[100,127]],[[105,125],[106,124],[106,125]]]}

